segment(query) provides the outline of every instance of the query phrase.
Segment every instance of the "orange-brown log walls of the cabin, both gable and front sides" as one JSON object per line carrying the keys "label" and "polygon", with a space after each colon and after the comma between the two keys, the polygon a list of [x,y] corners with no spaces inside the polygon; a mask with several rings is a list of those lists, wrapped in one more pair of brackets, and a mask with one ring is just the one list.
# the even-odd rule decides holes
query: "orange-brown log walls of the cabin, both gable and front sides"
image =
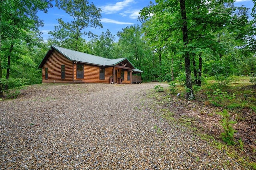
{"label": "orange-brown log walls of the cabin, both gable and front sides", "polygon": [[[84,68],[84,78],[77,78],[76,69],[77,64],[82,64]],[[61,66],[65,65],[65,79],[61,78]],[[48,68],[48,79],[45,79],[45,68]],[[117,82],[121,76],[121,69],[117,70]],[[118,72],[119,70],[119,72]],[[127,80],[127,71],[124,70],[124,79],[122,83],[130,84],[132,82],[132,73],[130,74],[131,80]],[[57,50],[54,50],[49,58],[46,60],[42,67],[42,82],[43,83],[110,83],[110,77],[113,73],[113,67],[105,67],[105,79],[100,80],[100,66],[90,64],[74,63],[62,55]],[[115,75],[116,76],[116,75]]]}

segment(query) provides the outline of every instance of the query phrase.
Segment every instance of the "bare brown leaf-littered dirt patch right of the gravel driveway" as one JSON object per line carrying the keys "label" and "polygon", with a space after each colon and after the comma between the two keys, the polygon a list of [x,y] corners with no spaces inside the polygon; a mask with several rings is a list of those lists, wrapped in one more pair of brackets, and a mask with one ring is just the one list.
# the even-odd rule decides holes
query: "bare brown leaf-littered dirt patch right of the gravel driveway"
{"label": "bare brown leaf-littered dirt patch right of the gravel driveway", "polygon": [[[159,93],[161,95],[161,93]],[[162,93],[162,97],[166,98],[166,94]],[[169,96],[169,94],[168,94]],[[220,133],[223,132],[223,127],[220,125],[222,117],[216,112],[221,112],[222,108],[215,107],[209,102],[202,102],[198,100],[188,101],[177,96],[170,96],[168,102],[164,105],[159,105],[159,109],[168,108],[173,113],[176,120],[190,118],[191,126],[198,128],[202,133],[214,136],[215,139],[220,140]],[[238,152],[250,157],[256,161],[256,114],[252,109],[242,109],[240,112],[229,112],[232,120],[238,120],[234,124],[234,129],[237,132],[234,134],[236,141],[242,140],[244,147]],[[239,145],[239,143],[238,143]]]}

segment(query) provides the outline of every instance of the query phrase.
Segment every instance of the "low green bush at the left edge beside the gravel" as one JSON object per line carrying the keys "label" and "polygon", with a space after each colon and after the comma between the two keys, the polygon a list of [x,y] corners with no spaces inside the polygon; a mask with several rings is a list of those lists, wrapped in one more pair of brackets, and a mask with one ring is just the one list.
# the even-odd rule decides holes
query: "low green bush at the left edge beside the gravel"
{"label": "low green bush at the left edge beside the gravel", "polygon": [[12,89],[13,92],[10,93],[8,90],[6,91],[7,93],[7,98],[17,98],[20,92],[15,91],[18,89],[20,86],[23,86],[27,83],[28,79],[26,78],[1,78],[0,83],[3,84],[3,86],[8,86],[8,88]]}

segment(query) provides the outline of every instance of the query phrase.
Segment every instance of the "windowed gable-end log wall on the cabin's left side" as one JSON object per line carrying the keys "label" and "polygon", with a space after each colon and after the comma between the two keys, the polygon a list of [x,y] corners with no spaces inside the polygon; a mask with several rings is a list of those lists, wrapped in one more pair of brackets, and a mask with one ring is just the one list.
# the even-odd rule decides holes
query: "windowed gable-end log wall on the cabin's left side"
{"label": "windowed gable-end log wall on the cabin's left side", "polygon": [[[65,65],[65,79],[61,78],[61,66]],[[48,68],[48,79],[45,79],[45,68]],[[42,83],[73,82],[73,62],[54,50],[42,67]]]}

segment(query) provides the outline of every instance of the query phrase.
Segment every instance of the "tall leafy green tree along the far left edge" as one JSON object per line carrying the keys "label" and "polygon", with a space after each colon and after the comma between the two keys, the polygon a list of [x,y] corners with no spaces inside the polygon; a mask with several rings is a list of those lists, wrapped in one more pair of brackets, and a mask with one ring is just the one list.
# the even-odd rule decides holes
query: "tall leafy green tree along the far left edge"
{"label": "tall leafy green tree along the far left edge", "polygon": [[[39,26],[43,26],[42,20],[36,15],[38,10],[47,12],[52,6],[51,0],[2,0],[0,8],[0,49],[4,54],[0,62],[7,58],[6,79],[10,76],[11,58],[16,44],[26,41],[27,32],[39,33]],[[2,48],[5,44],[6,48]],[[7,46],[8,44],[8,46]],[[0,76],[2,76],[2,64],[0,64]],[[1,78],[1,77],[0,77]],[[2,92],[0,85],[0,92]],[[5,86],[7,89],[7,86]],[[0,94],[2,95],[2,93]]]}

